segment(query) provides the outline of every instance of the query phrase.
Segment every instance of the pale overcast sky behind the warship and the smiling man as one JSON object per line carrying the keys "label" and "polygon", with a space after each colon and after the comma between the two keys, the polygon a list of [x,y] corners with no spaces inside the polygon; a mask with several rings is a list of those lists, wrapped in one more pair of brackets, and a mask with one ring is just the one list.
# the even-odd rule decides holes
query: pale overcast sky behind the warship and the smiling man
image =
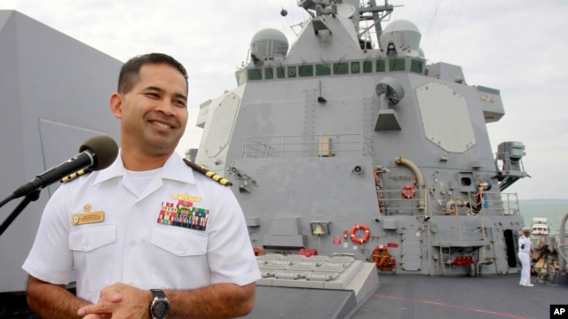
{"label": "pale overcast sky behind the warship and the smiling man", "polygon": [[[493,152],[504,141],[524,143],[532,176],[507,191],[521,199],[568,198],[568,1],[389,3],[400,5],[390,20],[420,29],[429,62],[461,66],[468,84],[501,90],[506,114],[488,125]],[[0,0],[0,10],[17,10],[122,61],[150,51],[177,58],[190,74],[182,153],[199,146],[199,105],[235,88],[234,71],[256,31],[278,28],[293,43],[299,27],[291,26],[308,19],[296,0]]]}

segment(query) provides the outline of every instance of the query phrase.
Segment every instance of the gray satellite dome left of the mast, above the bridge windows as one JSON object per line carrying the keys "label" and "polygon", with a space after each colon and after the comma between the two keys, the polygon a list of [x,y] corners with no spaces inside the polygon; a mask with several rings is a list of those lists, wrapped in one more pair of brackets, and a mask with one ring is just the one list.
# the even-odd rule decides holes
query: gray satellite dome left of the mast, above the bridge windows
{"label": "gray satellite dome left of the mast, above the bridge windows", "polygon": [[265,28],[256,32],[250,41],[250,52],[257,58],[286,56],[288,39],[277,29]]}

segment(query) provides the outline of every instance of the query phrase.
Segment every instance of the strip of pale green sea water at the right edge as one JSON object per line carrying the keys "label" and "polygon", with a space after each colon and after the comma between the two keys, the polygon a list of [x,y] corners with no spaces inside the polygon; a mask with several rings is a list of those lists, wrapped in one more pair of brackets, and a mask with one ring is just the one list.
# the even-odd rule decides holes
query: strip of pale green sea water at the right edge
{"label": "strip of pale green sea water at the right edge", "polygon": [[568,199],[524,199],[518,203],[525,226],[531,227],[534,217],[546,217],[550,225],[550,235],[556,235],[564,214],[568,214]]}

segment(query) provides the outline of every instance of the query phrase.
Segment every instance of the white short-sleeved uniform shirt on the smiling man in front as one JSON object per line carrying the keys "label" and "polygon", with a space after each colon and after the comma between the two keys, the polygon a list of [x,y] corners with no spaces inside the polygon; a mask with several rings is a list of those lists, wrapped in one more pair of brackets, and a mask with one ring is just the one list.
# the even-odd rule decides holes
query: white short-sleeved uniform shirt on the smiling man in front
{"label": "white short-sleeved uniform shirt on the smiling man in front", "polygon": [[115,282],[185,290],[260,278],[233,192],[193,174],[177,154],[139,196],[120,154],[61,185],[22,268],[51,284],[68,284],[75,268],[77,297],[91,302]]}

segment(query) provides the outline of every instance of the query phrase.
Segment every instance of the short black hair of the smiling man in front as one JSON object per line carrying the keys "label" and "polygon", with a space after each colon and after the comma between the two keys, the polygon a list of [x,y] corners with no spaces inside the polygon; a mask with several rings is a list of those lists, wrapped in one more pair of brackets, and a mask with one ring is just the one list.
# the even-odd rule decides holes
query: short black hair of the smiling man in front
{"label": "short black hair of the smiling man in front", "polygon": [[175,58],[163,53],[148,53],[130,58],[130,60],[124,63],[118,75],[117,91],[119,93],[127,93],[130,89],[134,88],[138,82],[140,68],[146,64],[166,64],[177,68],[177,70],[184,75],[185,84],[187,85],[187,71],[185,71],[185,67],[177,62]]}

